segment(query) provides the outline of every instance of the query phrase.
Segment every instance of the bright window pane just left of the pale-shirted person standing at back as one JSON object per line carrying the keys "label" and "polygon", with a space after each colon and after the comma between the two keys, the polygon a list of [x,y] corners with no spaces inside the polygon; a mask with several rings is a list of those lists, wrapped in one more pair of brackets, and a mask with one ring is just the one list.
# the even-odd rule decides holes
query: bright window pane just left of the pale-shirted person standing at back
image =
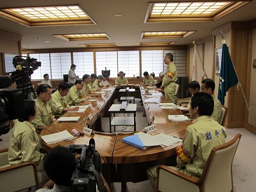
{"label": "bright window pane just left of the pale-shirted person standing at back", "polygon": [[69,74],[71,64],[71,53],[50,53],[52,78],[63,78],[63,74]]}

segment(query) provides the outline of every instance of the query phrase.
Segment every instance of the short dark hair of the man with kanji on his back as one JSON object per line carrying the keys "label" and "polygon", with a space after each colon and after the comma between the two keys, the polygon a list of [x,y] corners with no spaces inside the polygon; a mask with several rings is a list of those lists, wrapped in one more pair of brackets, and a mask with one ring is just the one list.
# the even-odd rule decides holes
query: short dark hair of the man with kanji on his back
{"label": "short dark hair of the man with kanji on his back", "polygon": [[191,108],[198,107],[200,116],[211,116],[213,114],[214,101],[213,96],[206,92],[196,92],[191,98]]}

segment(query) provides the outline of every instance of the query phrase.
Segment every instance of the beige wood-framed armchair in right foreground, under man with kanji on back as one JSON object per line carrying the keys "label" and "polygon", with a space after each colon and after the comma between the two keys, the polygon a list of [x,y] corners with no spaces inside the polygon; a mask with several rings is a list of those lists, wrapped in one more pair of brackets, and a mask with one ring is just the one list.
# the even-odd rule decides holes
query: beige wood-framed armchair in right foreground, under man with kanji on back
{"label": "beige wood-framed armchair in right foreground, under man with kanji on back", "polygon": [[233,191],[232,163],[241,135],[210,151],[201,178],[173,170],[166,165],[157,167],[157,191]]}

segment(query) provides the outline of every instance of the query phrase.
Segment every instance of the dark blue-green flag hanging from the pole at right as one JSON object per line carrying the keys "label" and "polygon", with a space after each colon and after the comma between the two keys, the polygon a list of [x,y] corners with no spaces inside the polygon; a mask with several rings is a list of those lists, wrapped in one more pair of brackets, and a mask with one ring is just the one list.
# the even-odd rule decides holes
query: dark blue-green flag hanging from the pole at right
{"label": "dark blue-green flag hanging from the pole at right", "polygon": [[238,83],[236,71],[234,69],[229,50],[226,43],[222,45],[222,62],[220,67],[220,83],[218,91],[218,100],[224,104],[224,97],[229,88],[233,87]]}

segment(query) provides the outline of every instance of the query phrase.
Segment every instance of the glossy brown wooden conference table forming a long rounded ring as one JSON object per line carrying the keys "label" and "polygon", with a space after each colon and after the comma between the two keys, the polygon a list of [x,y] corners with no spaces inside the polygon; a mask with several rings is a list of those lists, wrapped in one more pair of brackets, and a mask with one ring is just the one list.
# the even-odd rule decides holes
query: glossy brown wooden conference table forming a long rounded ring
{"label": "glossy brown wooden conference table forming a long rounded ring", "polygon": [[[119,86],[120,87],[120,86]],[[119,88],[116,87],[116,88]],[[161,92],[154,92],[154,95],[159,95],[157,98],[147,98],[144,95],[149,95],[149,92],[139,87],[137,85],[131,86],[140,88],[142,103],[144,104],[145,113],[147,115],[149,124],[153,123],[156,125],[156,128],[159,132],[172,135],[178,138],[184,137],[184,132],[190,122],[184,123],[174,123],[170,122],[167,118],[170,114],[182,114],[179,109],[161,109],[159,106],[160,102],[168,102],[164,95]],[[114,89],[112,92],[102,95],[102,97],[97,97],[97,102],[91,102],[83,113],[66,113],[63,116],[80,116],[78,122],[55,122],[51,125],[47,125],[41,132],[41,135],[48,135],[55,132],[60,132],[62,130],[68,130],[70,133],[73,128],[83,130],[84,125],[88,124],[88,127],[95,128],[93,125],[97,121],[101,121],[102,114],[104,114],[111,104],[113,103],[112,95],[114,95]],[[149,102],[155,102],[156,104],[147,104]],[[85,103],[81,103],[85,104]],[[84,118],[87,118],[89,114],[93,115],[93,118],[90,120],[83,121]],[[152,119],[151,114],[153,114],[154,119]],[[97,130],[97,129],[96,129]],[[173,146],[153,146],[147,149],[139,149],[135,146],[131,146],[121,141],[123,137],[128,135],[133,135],[133,133],[105,133],[105,132],[95,132],[95,135],[84,135],[71,141],[62,141],[55,144],[45,144],[46,150],[52,149],[54,146],[61,145],[67,146],[69,144],[88,144],[90,138],[95,139],[95,148],[100,153],[100,156],[105,163],[109,165],[108,173],[111,172],[110,165],[120,165],[121,166],[121,182],[122,182],[122,191],[126,191],[126,181],[128,181],[128,165],[148,163],[154,160],[161,160],[169,156],[175,155],[175,148],[179,144]],[[119,172],[117,170],[112,170],[113,172]],[[143,170],[144,172],[144,170]],[[110,177],[107,175],[107,177]],[[111,177],[112,178],[112,177]],[[107,178],[108,183],[110,180]]]}

